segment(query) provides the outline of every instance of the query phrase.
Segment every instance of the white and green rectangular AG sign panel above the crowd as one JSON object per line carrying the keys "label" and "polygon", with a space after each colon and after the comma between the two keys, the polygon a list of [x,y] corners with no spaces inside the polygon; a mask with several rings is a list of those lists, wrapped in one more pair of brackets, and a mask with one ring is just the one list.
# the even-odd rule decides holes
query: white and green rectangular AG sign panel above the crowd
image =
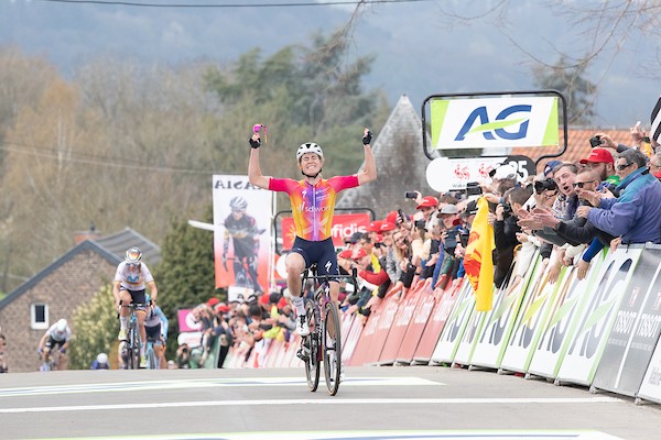
{"label": "white and green rectangular AG sign panel above the crowd", "polygon": [[436,150],[559,145],[556,97],[434,99]]}

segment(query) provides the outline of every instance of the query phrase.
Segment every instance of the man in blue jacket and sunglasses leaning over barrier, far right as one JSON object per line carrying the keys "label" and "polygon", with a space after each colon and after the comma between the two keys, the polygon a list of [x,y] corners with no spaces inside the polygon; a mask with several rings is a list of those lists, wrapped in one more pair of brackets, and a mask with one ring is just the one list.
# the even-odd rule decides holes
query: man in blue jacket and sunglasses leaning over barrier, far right
{"label": "man in blue jacket and sunglasses leaning over barrier, far right", "polygon": [[602,198],[599,206],[578,207],[577,215],[621,243],[661,243],[661,183],[650,174],[647,156],[627,150],[616,156],[615,169],[621,183],[619,197]]}

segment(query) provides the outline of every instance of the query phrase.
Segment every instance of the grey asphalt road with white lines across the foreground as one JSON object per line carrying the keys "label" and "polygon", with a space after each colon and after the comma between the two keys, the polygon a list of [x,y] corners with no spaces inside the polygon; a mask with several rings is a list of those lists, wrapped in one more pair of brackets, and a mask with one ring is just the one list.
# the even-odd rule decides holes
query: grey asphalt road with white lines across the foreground
{"label": "grey asphalt road with white lines across the foreground", "polygon": [[[323,375],[323,374],[322,374]],[[442,366],[350,367],[337,396],[303,370],[0,376],[0,438],[657,439],[661,406]]]}

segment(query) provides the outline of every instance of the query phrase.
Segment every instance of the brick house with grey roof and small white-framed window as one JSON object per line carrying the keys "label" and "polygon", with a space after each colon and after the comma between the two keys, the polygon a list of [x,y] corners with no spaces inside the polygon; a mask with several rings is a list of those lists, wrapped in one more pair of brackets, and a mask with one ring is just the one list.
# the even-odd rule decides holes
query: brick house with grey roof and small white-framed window
{"label": "brick house with grey roof and small white-framed window", "polygon": [[160,249],[151,240],[127,228],[109,235],[94,231],[79,234],[80,242],[0,300],[0,327],[7,338],[4,359],[10,372],[39,371],[36,349],[51,324],[88,302],[111,283],[126,250],[137,245],[144,262],[160,261]]}

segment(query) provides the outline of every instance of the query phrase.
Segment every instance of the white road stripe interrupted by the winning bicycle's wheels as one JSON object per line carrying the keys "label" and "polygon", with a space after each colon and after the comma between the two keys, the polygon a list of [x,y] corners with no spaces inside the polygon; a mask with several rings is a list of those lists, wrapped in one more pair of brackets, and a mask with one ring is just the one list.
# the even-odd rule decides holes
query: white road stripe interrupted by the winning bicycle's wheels
{"label": "white road stripe interrupted by the winning bicycle's wheels", "polygon": [[[323,383],[323,381],[322,381]],[[118,393],[145,389],[182,389],[210,387],[252,387],[252,386],[292,386],[305,387],[305,378],[263,377],[263,378],[205,378],[178,381],[119,382],[105,384],[48,385],[22,388],[0,388],[0,398],[17,396],[43,396],[54,394]],[[444,385],[440,382],[420,377],[350,377],[342,383],[346,386],[430,386]]]}

